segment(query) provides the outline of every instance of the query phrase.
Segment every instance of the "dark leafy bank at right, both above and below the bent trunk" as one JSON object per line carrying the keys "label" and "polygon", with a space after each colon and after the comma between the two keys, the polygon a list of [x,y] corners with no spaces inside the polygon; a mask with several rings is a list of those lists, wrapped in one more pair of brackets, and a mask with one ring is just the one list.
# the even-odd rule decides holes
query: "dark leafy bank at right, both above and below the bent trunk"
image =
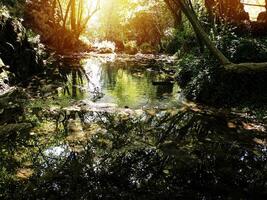
{"label": "dark leafy bank at right, both above and below the bent trunk", "polygon": [[[220,50],[232,62],[266,61],[264,38],[236,37],[223,37],[217,41]],[[203,55],[190,53],[181,59],[179,66],[177,81],[189,100],[218,107],[266,105],[266,71],[227,71],[207,52]]]}

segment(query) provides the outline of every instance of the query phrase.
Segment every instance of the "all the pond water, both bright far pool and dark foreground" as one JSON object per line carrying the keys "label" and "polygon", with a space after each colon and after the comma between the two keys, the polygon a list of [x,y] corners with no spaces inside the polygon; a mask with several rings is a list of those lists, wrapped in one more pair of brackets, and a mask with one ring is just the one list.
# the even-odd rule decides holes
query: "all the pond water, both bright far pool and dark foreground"
{"label": "all the pond water, both bright far pool and dark foreground", "polygon": [[266,112],[175,107],[158,63],[98,61],[64,62],[59,98],[16,94],[1,111],[0,199],[266,199]]}

